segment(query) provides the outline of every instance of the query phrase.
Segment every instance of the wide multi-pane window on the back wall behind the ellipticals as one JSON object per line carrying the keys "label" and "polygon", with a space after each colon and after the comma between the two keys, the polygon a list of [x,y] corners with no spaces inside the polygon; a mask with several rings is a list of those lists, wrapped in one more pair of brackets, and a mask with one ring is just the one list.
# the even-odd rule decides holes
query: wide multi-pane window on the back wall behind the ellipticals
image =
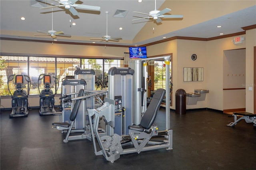
{"label": "wide multi-pane window on the back wall behind the ellipticals", "polygon": [[[56,76],[59,79],[57,93],[60,94],[62,79],[67,75],[74,76],[74,71],[78,65],[81,66],[82,69],[94,69],[96,77],[107,83],[108,70],[111,67],[123,67],[123,60],[2,55],[0,56],[0,95],[10,95],[7,81],[8,77],[12,74],[24,74],[30,77],[32,81],[30,95],[39,94],[38,77],[40,74]],[[15,86],[10,86],[10,91],[13,93]],[[27,91],[27,88],[25,90]],[[56,89],[52,90],[54,91]]]}

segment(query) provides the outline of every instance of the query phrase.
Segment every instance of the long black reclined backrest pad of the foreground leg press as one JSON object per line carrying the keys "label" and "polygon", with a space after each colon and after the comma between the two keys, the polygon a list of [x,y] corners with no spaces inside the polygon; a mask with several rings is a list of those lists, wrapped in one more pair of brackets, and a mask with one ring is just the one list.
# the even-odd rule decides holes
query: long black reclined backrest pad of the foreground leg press
{"label": "long black reclined backrest pad of the foreground leg press", "polygon": [[156,119],[156,114],[160,108],[162,100],[164,99],[165,89],[157,89],[150,101],[146,112],[144,113],[140,126],[144,129],[149,129]]}

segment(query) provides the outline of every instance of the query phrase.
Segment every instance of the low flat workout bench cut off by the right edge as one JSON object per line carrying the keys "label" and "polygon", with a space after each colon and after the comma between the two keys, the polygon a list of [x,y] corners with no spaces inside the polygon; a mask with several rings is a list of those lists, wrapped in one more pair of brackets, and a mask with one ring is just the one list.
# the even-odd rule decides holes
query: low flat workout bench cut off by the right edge
{"label": "low flat workout bench cut off by the right edge", "polygon": [[[253,126],[256,127],[256,114],[252,114],[249,112],[240,112],[240,113],[234,112],[233,116],[234,116],[234,122],[231,122],[227,126],[234,127],[239,121],[244,119],[246,123],[253,123]],[[237,119],[238,116],[241,116],[241,117]]]}

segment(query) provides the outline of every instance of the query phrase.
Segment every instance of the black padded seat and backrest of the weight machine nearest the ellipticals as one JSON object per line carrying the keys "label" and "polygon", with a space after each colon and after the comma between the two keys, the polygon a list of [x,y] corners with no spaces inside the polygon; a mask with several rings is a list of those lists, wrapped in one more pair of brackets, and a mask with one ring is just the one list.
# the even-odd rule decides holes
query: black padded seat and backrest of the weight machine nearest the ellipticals
{"label": "black padded seat and backrest of the weight machine nearest the ellipticals", "polygon": [[[80,89],[77,97],[81,97],[83,95],[84,95],[84,89]],[[82,101],[82,99],[75,101],[73,110],[72,110],[72,112],[70,114],[70,117],[69,117],[71,122],[73,122],[76,119],[76,115],[78,113],[78,109],[79,109],[79,106],[81,104],[81,101]],[[60,127],[69,127],[71,125],[71,123],[69,124],[67,122],[54,122],[54,123],[52,123],[52,125],[60,126]],[[72,127],[70,127],[70,128],[72,128]]]}

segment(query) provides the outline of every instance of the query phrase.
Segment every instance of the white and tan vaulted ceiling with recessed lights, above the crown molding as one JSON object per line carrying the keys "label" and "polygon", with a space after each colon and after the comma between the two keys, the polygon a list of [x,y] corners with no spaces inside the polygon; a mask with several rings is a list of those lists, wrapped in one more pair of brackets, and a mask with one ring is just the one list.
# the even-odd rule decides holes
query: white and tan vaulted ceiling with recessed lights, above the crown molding
{"label": "white and tan vaulted ceiling with recessed lights, above the crown molding", "polygon": [[[0,0],[0,36],[28,40],[52,40],[51,36],[35,36],[37,30],[52,29],[72,35],[59,37],[58,41],[83,43],[109,43],[116,45],[142,45],[174,36],[212,38],[243,32],[243,27],[256,24],[256,1],[254,0],[156,0],[156,9],[170,8],[168,14],[183,18],[164,18],[156,23],[147,17],[155,9],[154,0],[79,0],[77,4],[99,6],[100,10],[76,10],[73,16],[64,7],[40,9],[58,5],[54,0]],[[108,27],[106,27],[108,11]],[[21,17],[25,20],[21,20]],[[134,21],[132,21],[134,20]],[[72,23],[76,25],[73,26]],[[222,26],[217,28],[216,26]],[[122,27],[122,30],[119,28]],[[106,28],[107,31],[106,32]],[[122,37],[119,42],[100,42],[90,38]]]}

